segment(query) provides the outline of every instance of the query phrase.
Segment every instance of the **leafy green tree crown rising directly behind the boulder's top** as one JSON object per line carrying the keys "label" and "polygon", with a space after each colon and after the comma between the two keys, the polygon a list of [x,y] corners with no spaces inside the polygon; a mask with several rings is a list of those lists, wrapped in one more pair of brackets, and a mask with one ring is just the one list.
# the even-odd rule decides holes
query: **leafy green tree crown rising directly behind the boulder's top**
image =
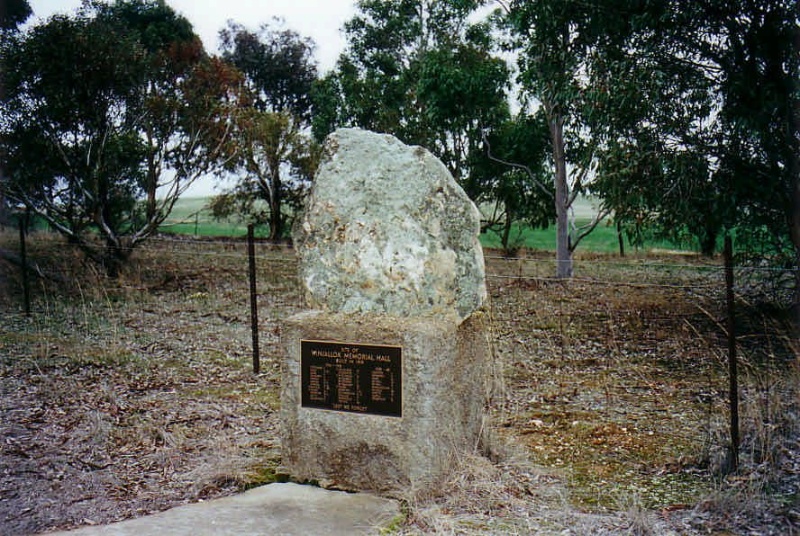
{"label": "leafy green tree crown rising directly behind the boulder's top", "polygon": [[482,132],[509,118],[510,73],[478,0],[361,0],[347,49],[315,91],[314,133],[358,126],[431,150],[466,183]]}

